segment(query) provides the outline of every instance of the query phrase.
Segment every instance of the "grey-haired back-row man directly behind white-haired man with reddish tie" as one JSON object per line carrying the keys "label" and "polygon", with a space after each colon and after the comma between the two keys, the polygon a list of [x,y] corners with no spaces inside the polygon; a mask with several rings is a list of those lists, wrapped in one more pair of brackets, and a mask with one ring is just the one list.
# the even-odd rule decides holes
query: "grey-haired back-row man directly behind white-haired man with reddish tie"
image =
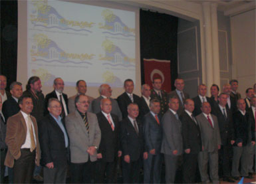
{"label": "grey-haired back-row man directly behind white-haired man with reddish tie", "polygon": [[100,92],[100,96],[90,103],[88,112],[93,112],[94,114],[98,114],[98,112],[101,111],[100,109],[100,101],[103,98],[109,98],[112,103],[112,114],[115,114],[118,116],[118,120],[122,121],[122,112],[120,111],[120,108],[118,106],[118,103],[113,98],[110,98],[112,96],[112,89],[108,84],[101,84],[100,88],[98,88],[98,92]]}

